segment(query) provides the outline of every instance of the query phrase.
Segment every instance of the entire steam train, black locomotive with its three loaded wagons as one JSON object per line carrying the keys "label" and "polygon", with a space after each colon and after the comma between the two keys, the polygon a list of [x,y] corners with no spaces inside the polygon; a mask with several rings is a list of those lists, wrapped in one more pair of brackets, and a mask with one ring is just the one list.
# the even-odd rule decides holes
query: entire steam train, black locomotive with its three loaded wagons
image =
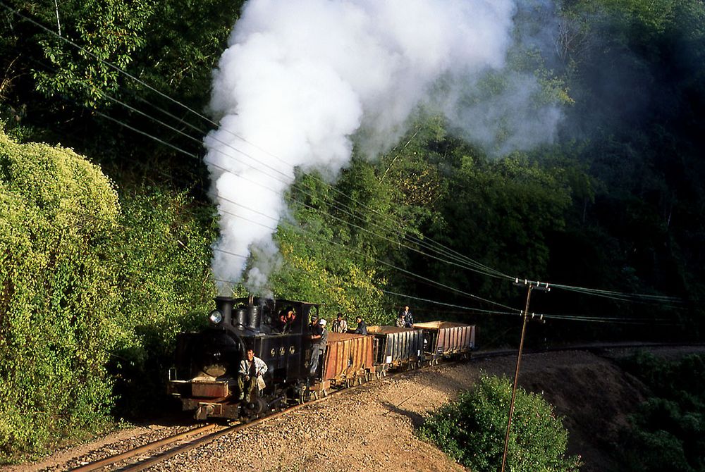
{"label": "entire steam train, black locomotive with its three loaded wagons", "polygon": [[[449,356],[469,356],[475,327],[434,321],[414,328],[370,326],[368,335],[329,333],[324,359],[309,373],[309,319],[319,305],[286,299],[217,297],[210,327],[176,342],[167,392],[195,418],[251,419],[311,397]],[[264,387],[242,398],[240,361],[248,349],[267,366]]]}

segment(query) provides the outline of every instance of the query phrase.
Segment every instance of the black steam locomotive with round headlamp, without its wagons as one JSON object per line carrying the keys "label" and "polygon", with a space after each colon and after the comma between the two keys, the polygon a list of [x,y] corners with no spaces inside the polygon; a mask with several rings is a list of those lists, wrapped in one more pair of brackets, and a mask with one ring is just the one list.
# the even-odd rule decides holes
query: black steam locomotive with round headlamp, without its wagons
{"label": "black steam locomotive with round headlamp, without its wagons", "polygon": [[[251,418],[304,398],[309,382],[307,321],[319,306],[290,300],[217,297],[211,327],[178,337],[168,392],[198,419]],[[264,389],[238,399],[247,349],[267,365]]]}

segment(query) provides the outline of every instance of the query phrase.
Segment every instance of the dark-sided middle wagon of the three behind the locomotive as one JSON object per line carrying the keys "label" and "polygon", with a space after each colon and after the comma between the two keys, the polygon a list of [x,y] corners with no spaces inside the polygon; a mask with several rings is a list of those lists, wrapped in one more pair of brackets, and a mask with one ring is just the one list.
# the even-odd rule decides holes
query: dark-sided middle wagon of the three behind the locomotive
{"label": "dark-sided middle wagon of the three behind the locomotive", "polygon": [[389,368],[415,366],[423,360],[424,333],[412,328],[369,326],[374,335],[372,355],[376,371],[384,375]]}

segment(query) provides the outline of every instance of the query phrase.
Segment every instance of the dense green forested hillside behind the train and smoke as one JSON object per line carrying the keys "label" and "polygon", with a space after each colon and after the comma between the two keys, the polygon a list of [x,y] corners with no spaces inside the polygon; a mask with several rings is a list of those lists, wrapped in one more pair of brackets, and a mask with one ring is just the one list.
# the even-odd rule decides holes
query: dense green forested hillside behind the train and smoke
{"label": "dense green forested hillside behind the train and smoke", "polygon": [[[199,156],[213,123],[173,100],[204,109],[240,3],[0,4],[4,458],[144,411],[174,336],[209,309],[216,213]],[[482,324],[484,344],[515,342],[518,317],[489,316],[506,309],[481,300],[520,309],[525,291],[461,268],[462,254],[511,277],[680,299],[537,294],[532,311],[651,325],[554,319],[530,326],[529,342],[701,339],[704,4],[560,0],[520,13],[529,28],[556,25],[550,48],[517,46],[510,61],[561,104],[556,141],[495,156],[421,110],[398,147],[355,154],[333,187],[299,175],[275,235],[275,294],[373,323],[409,303],[418,320],[455,316]],[[445,261],[422,254],[433,241]]]}

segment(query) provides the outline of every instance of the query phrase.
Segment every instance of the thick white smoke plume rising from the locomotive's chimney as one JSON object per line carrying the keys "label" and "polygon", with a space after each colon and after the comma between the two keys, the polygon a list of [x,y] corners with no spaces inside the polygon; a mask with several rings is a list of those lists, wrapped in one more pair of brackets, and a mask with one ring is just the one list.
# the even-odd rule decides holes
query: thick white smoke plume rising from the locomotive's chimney
{"label": "thick white smoke plume rising from the locomotive's chimney", "polygon": [[[503,68],[515,8],[511,0],[250,0],[214,72],[220,128],[205,139],[221,217],[216,280],[242,280],[257,248],[266,264],[245,285],[266,290],[278,263],[271,235],[295,168],[334,180],[356,134],[367,154],[389,149],[419,103],[434,101],[467,135],[491,142],[493,117],[513,106],[510,94],[459,108],[453,93],[431,100],[430,90],[441,77],[467,85]],[[556,116],[541,119],[524,134],[532,142],[543,128],[552,132]]]}

